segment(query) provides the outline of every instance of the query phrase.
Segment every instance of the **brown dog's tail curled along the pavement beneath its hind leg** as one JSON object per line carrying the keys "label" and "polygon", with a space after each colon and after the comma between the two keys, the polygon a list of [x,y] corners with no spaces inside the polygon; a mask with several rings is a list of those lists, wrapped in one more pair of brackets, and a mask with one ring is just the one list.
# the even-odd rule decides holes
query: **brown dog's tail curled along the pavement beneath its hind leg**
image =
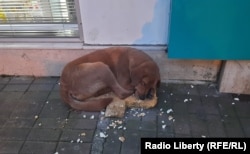
{"label": "brown dog's tail curled along the pavement beneath its hind leg", "polygon": [[60,94],[65,103],[69,104],[75,110],[82,111],[101,111],[113,101],[112,97],[91,98],[79,101],[73,98],[70,92],[64,88],[60,88]]}

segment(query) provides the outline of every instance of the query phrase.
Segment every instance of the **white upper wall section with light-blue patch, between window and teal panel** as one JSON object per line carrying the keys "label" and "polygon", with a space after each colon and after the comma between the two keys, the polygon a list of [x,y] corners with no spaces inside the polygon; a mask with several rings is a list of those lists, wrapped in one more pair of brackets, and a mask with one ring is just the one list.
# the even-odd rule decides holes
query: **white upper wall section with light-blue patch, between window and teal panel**
{"label": "white upper wall section with light-blue patch, between window and teal panel", "polygon": [[86,44],[166,45],[170,0],[80,0]]}

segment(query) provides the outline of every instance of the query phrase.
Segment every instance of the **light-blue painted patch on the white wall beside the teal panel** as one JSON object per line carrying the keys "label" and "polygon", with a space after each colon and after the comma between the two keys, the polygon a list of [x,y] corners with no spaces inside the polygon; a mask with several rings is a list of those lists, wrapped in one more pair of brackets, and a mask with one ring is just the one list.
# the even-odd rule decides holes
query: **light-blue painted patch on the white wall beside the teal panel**
{"label": "light-blue painted patch on the white wall beside the teal panel", "polygon": [[[161,44],[167,43],[166,25],[168,20],[166,18],[169,10],[169,0],[157,0],[154,7],[154,16],[152,21],[145,23],[142,28],[142,37],[135,40],[134,44]],[[166,31],[162,31],[166,30]]]}

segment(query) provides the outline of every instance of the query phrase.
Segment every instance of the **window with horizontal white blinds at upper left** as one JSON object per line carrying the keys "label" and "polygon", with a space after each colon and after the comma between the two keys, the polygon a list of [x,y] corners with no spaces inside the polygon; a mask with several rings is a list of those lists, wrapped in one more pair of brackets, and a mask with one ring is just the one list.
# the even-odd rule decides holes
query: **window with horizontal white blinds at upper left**
{"label": "window with horizontal white blinds at upper left", "polygon": [[0,38],[78,38],[74,0],[0,0]]}

